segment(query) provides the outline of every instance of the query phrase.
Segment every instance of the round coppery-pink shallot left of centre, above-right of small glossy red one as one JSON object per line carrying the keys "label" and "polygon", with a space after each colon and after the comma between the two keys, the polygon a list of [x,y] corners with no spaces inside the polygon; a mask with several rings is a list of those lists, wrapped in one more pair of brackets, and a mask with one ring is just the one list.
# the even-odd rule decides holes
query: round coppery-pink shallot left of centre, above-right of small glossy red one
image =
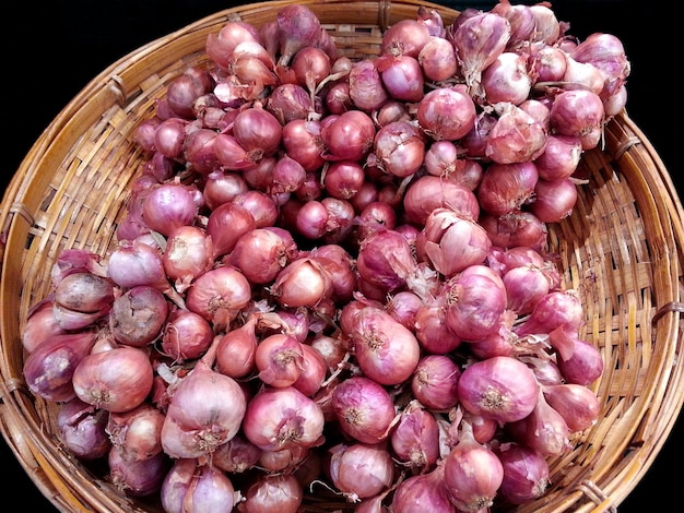
{"label": "round coppery-pink shallot left of centre, above-right of small glossy red one", "polygon": [[223,330],[251,300],[251,285],[235,267],[219,266],[200,275],[186,294],[188,310]]}

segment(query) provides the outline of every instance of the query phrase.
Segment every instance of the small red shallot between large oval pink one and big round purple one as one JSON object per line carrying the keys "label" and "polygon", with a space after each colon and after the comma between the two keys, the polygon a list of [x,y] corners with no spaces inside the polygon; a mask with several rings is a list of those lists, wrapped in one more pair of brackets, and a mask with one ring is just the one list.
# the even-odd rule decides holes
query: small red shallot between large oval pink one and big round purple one
{"label": "small red shallot between large oval pink one and big round purple one", "polygon": [[425,407],[448,410],[458,403],[460,375],[460,368],[447,355],[426,355],[411,378],[411,392]]}

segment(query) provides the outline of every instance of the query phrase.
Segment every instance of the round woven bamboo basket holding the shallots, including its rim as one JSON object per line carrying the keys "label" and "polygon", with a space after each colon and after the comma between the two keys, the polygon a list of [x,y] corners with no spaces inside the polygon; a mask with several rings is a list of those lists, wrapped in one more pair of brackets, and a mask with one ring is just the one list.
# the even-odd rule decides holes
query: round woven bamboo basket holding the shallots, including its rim
{"label": "round woven bamboo basket holding the shallots, including its rim", "polygon": [[[382,31],[414,17],[421,3],[297,0],[310,7],[340,50],[375,56]],[[49,288],[49,270],[67,248],[104,255],[116,242],[131,181],[144,159],[137,124],[153,116],[167,84],[208,61],[207,36],[227,20],[257,26],[292,0],[217,12],[156,39],[92,80],[35,142],[7,189],[0,281],[0,429],[38,489],[63,512],[161,511],[155,500],[122,496],[103,468],[86,466],[60,446],[56,408],[33,396],[23,380],[20,339],[28,308]],[[437,4],[449,23],[458,11]],[[561,255],[564,285],[580,291],[581,335],[603,355],[592,387],[600,421],[552,460],[547,493],[523,512],[614,511],[645,475],[669,436],[684,396],[682,276],[683,210],[674,186],[645,134],[626,112],[605,130],[602,150],[587,152],[574,214],[549,227]],[[322,492],[321,492],[322,493]],[[309,494],[305,511],[351,506]]]}

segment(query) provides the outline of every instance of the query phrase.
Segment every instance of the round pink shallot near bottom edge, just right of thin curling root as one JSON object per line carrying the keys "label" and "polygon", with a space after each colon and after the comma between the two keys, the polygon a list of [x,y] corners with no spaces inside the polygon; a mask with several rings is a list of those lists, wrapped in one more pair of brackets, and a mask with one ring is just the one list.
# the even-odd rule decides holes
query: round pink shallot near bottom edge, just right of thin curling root
{"label": "round pink shallot near bottom edge, just right of thin curling root", "polygon": [[375,497],[394,479],[394,463],[382,444],[339,443],[328,450],[332,485],[350,502]]}

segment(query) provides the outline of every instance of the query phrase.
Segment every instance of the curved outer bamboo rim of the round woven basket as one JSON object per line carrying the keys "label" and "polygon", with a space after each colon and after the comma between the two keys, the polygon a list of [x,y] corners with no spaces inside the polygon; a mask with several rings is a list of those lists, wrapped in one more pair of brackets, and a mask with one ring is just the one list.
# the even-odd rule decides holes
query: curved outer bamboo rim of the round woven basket
{"label": "curved outer bamboo rim of the round woven basket", "polygon": [[[352,0],[353,1],[353,0]],[[129,102],[129,98],[133,92],[133,88],[137,87],[137,84],[132,84],[126,79],[121,79],[121,76],[127,75],[127,71],[129,71],[131,64],[134,64],[138,61],[144,60],[146,57],[151,55],[155,55],[156,52],[163,50],[169,43],[173,43],[177,38],[188,36],[192,33],[201,33],[208,27],[215,26],[220,20],[227,20],[236,14],[241,12],[247,12],[252,9],[266,9],[266,10],[274,10],[283,4],[288,3],[312,3],[312,4],[347,4],[347,2],[343,2],[341,0],[309,0],[309,1],[293,1],[293,0],[280,0],[280,1],[266,1],[266,2],[256,2],[248,3],[244,5],[239,5],[236,8],[229,8],[208,16],[204,16],[198,20],[194,23],[191,23],[178,31],[175,31],[166,36],[160,37],[153,41],[150,41],[148,45],[140,47],[137,50],[131,51],[129,55],[123,56],[118,59],[107,69],[103,70],[98,75],[96,75],[85,87],[79,93],[72,102],[64,106],[64,108],[56,116],[55,120],[50,126],[45,130],[45,132],[40,135],[40,138],[35,142],[30,152],[27,153],[25,159],[20,165],[20,168],[13,176],[9,187],[4,191],[4,195],[2,199],[2,203],[0,206],[0,227],[2,229],[8,229],[8,231],[13,232],[14,230],[23,230],[20,225],[31,224],[33,223],[33,215],[31,213],[31,208],[27,208],[24,202],[16,201],[16,198],[27,198],[31,192],[34,190],[39,190],[45,187],[47,183],[47,179],[42,180],[38,179],[35,175],[35,169],[39,168],[45,155],[50,151],[55,141],[60,136],[63,128],[69,123],[69,121],[80,112],[83,112],[86,109],[86,105],[89,102],[92,102],[93,98],[97,98],[98,102],[103,102],[107,105],[125,105]],[[424,5],[426,2],[392,2],[389,0],[380,1],[380,2],[365,2],[369,4],[378,5],[380,12],[385,12],[388,9],[396,4],[408,4],[408,5]],[[449,10],[441,4],[429,4],[435,5],[436,9],[439,10]],[[456,11],[453,11],[456,12]],[[381,16],[380,16],[381,17]],[[672,269],[672,277],[671,284],[677,282],[677,275],[680,273],[679,267],[681,266],[682,254],[681,254],[681,246],[682,241],[684,241],[684,228],[682,225],[682,219],[684,218],[684,210],[682,208],[681,201],[676,193],[676,189],[672,183],[672,179],[670,174],[664,167],[664,164],[658,156],[656,150],[652,147],[646,135],[640,131],[640,129],[629,119],[628,114],[625,111],[620,115],[616,119],[617,123],[622,123],[628,131],[630,131],[636,140],[638,140],[638,152],[645,153],[646,156],[639,154],[640,158],[649,158],[653,163],[653,167],[658,171],[657,177],[652,177],[651,179],[658,183],[659,190],[665,192],[662,194],[662,198],[656,198],[652,200],[656,205],[656,211],[659,213],[662,218],[668,218],[671,223],[663,224],[664,232],[661,235],[663,239],[663,255],[667,256],[670,261]],[[617,159],[622,158],[636,158],[634,157],[635,147],[626,147],[624,152],[617,157]],[[31,176],[31,183],[26,183],[24,181],[25,176]],[[677,242],[676,247],[667,246],[667,239],[673,240]],[[0,262],[0,279],[2,281],[2,288],[0,288],[0,293],[2,293],[2,297],[4,297],[4,293],[7,291],[7,279],[8,275],[15,272],[17,266],[8,263],[8,260],[2,256],[2,261]],[[664,279],[664,278],[663,278]],[[681,290],[674,289],[669,290],[671,293],[671,298],[665,303],[661,305],[658,308],[657,314],[654,315],[654,322],[658,323],[659,330],[662,330],[668,335],[665,338],[677,339],[681,335],[679,333],[679,324],[681,319],[681,313],[683,313],[682,299],[681,299]],[[2,307],[0,310],[0,315],[4,319],[8,318],[8,312],[5,311],[5,307]],[[5,338],[9,330],[5,330],[4,322],[2,323],[2,327],[0,331],[0,344],[4,349],[4,345],[11,343],[8,341],[9,337]],[[677,349],[681,350],[681,347],[672,346],[670,348],[670,356],[675,356],[677,354]],[[15,381],[15,377],[7,374],[7,370],[10,368],[10,365],[5,360],[5,355],[3,351],[2,360],[0,362],[0,374],[2,374],[2,386],[0,389],[0,431],[2,431],[3,437],[9,442],[12,450],[15,452],[15,455],[20,460],[20,462],[27,469],[28,474],[32,478],[35,477],[35,472],[37,468],[50,469],[54,467],[58,467],[61,465],[61,462],[55,460],[49,462],[49,457],[46,458],[46,455],[43,454],[42,445],[49,440],[40,432],[40,427],[34,423],[26,423],[26,419],[22,417],[21,413],[30,407],[28,403],[31,402],[31,397],[25,395],[25,391],[22,391],[21,383]],[[653,387],[664,386],[668,387],[668,392],[665,392],[665,398],[668,402],[665,403],[665,409],[660,410],[660,414],[665,413],[664,417],[661,417],[661,422],[657,427],[657,432],[649,433],[650,440],[638,449],[634,451],[639,454],[638,457],[634,457],[632,460],[630,465],[625,466],[618,476],[610,481],[610,486],[605,487],[602,490],[599,490],[599,498],[601,494],[604,496],[604,499],[599,500],[599,505],[594,510],[586,510],[581,511],[602,511],[602,508],[605,505],[611,505],[621,502],[629,491],[634,489],[638,480],[645,475],[645,473],[650,467],[651,463],[656,458],[660,448],[664,443],[667,437],[671,432],[674,422],[676,421],[677,416],[680,415],[683,402],[684,402],[684,375],[682,371],[682,366],[679,368],[674,368],[670,375],[670,379],[667,383],[654,383]],[[662,391],[653,391],[653,393]],[[646,409],[647,405],[644,405]],[[636,429],[636,428],[635,428]],[[35,432],[34,432],[35,431]],[[69,490],[67,487],[61,487],[58,489],[58,493],[55,492],[52,487],[59,487],[59,484],[68,478],[67,475],[60,475],[56,473],[54,476],[48,476],[47,480],[34,478],[34,481],[40,489],[40,491],[51,500],[54,500],[57,508],[62,511],[69,511],[69,508],[72,504],[79,503],[79,499],[75,496],[71,499],[57,499],[56,496],[60,494],[62,498],[69,496]],[[73,480],[70,480],[71,485],[74,485]],[[590,484],[585,485],[590,488]],[[594,493],[595,490],[591,489],[580,490],[578,493]],[[78,490],[80,493],[87,494],[87,490],[85,488],[81,488]],[[52,499],[55,498],[55,499]],[[99,499],[99,496],[98,496]],[[63,500],[64,502],[60,502]],[[102,500],[102,499],[101,499]],[[116,509],[116,504],[108,505],[108,508]],[[578,510],[579,511],[579,510]]]}

